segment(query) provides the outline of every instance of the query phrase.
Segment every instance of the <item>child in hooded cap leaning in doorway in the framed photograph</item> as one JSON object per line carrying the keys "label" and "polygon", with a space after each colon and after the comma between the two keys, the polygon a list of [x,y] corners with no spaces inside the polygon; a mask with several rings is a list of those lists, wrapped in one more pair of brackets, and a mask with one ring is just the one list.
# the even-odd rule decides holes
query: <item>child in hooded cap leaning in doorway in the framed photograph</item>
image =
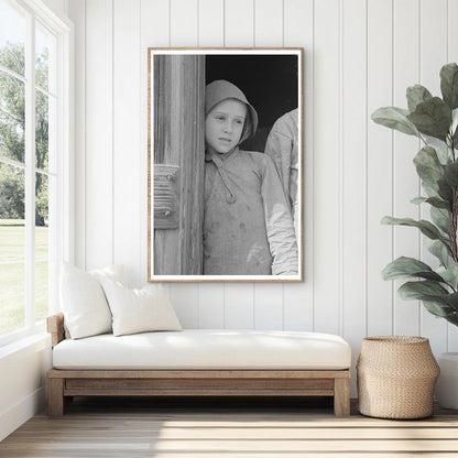
{"label": "child in hooded cap leaning in doorway in the framed photograph", "polygon": [[242,151],[258,113],[233,84],[216,80],[205,101],[205,275],[296,275],[293,218],[272,160]]}

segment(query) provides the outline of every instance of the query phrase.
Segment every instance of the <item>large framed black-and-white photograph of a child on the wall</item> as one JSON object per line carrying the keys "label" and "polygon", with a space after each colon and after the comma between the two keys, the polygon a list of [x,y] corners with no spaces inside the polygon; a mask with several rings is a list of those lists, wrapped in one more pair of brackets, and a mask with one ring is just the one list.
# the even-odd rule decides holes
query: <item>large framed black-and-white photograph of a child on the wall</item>
{"label": "large framed black-and-white photograph of a child on the wall", "polygon": [[148,54],[148,280],[303,281],[303,50]]}

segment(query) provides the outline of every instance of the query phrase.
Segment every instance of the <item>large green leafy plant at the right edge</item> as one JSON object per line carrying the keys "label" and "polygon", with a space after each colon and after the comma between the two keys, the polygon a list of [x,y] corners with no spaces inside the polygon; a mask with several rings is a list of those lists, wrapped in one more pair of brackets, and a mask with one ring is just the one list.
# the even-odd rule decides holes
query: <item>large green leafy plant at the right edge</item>
{"label": "large green leafy plant at the right edge", "polygon": [[425,87],[407,88],[407,109],[379,108],[372,120],[422,141],[414,159],[424,196],[415,205],[427,204],[430,220],[385,216],[384,225],[417,228],[429,239],[428,250],[439,266],[401,257],[388,264],[384,280],[411,279],[399,288],[404,299],[419,299],[433,315],[458,326],[458,65],[440,69],[440,97]]}

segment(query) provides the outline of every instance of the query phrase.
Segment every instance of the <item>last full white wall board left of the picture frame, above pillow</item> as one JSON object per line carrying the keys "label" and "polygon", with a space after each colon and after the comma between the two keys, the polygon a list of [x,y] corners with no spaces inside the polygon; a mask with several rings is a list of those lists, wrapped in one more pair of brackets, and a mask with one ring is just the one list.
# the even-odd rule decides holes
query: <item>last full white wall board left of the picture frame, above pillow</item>
{"label": "last full white wall board left of the picture frame, above pillow", "polygon": [[140,279],[140,0],[113,2],[113,262]]}

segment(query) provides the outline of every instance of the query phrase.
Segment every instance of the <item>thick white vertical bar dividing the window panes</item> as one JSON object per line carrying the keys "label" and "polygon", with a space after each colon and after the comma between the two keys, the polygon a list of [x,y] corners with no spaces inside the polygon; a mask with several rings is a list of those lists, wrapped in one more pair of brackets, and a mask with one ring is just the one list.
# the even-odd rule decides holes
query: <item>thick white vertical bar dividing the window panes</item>
{"label": "thick white vertical bar dividing the window panes", "polygon": [[25,45],[25,326],[35,325],[35,18]]}

